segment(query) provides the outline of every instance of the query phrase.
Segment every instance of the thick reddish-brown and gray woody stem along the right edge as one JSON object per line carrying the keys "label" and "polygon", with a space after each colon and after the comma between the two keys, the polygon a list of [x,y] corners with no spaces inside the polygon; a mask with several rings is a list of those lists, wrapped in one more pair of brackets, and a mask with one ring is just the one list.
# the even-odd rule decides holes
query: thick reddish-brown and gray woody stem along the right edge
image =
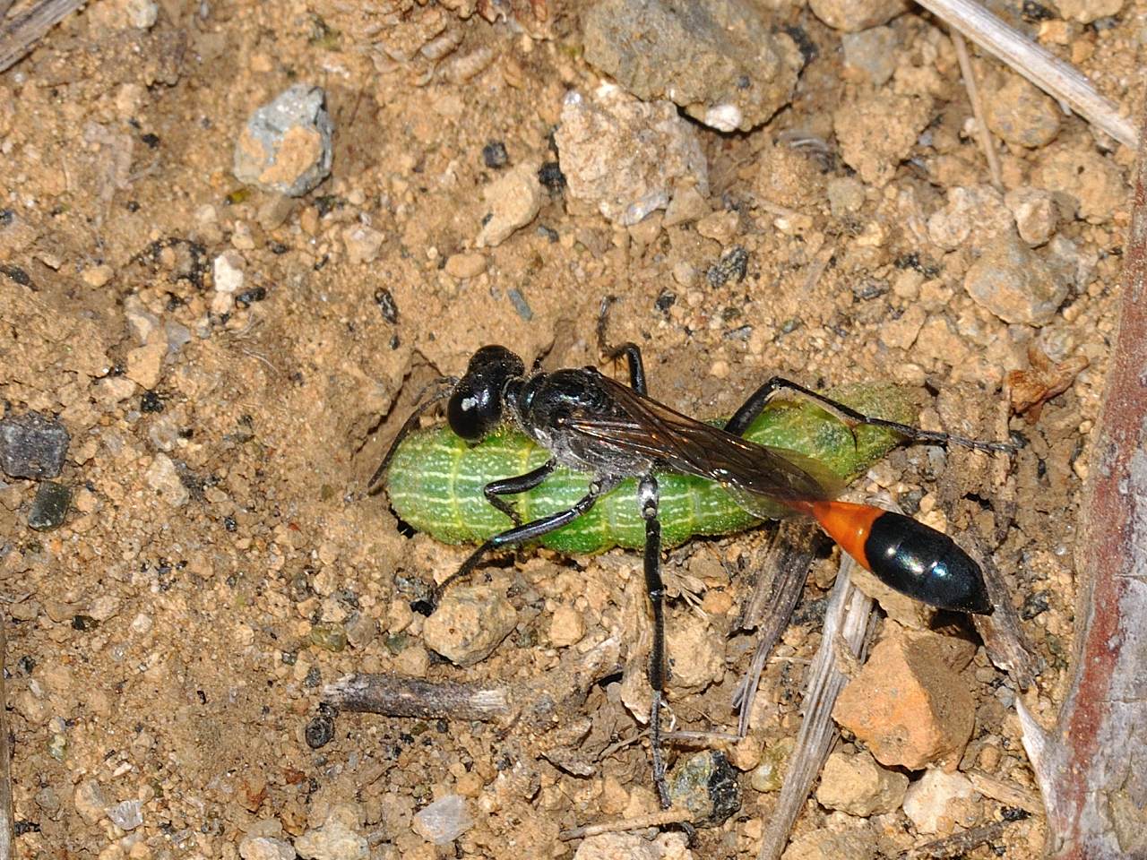
{"label": "thick reddish-brown and gray woody stem along the right edge", "polygon": [[[1142,130],[1147,140],[1147,110]],[[1076,546],[1075,678],[1045,732],[1016,702],[1054,858],[1147,857],[1147,147],[1140,144],[1084,529]]]}

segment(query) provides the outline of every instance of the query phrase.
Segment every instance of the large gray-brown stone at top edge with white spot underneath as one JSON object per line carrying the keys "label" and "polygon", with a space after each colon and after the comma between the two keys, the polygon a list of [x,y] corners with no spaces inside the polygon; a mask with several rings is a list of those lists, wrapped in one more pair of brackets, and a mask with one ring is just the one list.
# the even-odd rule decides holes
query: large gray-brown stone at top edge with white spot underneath
{"label": "large gray-brown stone at top edge with white spot underneath", "polygon": [[746,0],[602,0],[585,15],[585,57],[642,101],[749,131],[788,103],[802,63],[771,30]]}

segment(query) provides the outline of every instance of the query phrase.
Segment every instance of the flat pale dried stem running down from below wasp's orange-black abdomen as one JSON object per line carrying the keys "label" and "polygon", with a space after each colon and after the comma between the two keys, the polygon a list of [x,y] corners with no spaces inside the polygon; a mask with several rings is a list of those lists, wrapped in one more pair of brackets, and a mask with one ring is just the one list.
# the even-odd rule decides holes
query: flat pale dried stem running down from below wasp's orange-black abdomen
{"label": "flat pale dried stem running down from below wasp's orange-black abdomen", "polygon": [[836,585],[833,586],[825,613],[820,649],[809,672],[804,720],[801,722],[796,746],[785,774],[785,784],[762,839],[757,860],[777,860],[785,851],[793,823],[804,808],[809,789],[836,740],[833,705],[846,680],[836,670],[836,636],[843,635],[850,650],[861,655],[868,640],[868,619],[873,605],[871,597],[852,587],[855,568],[856,562],[851,556],[842,556],[841,571],[836,574]]}

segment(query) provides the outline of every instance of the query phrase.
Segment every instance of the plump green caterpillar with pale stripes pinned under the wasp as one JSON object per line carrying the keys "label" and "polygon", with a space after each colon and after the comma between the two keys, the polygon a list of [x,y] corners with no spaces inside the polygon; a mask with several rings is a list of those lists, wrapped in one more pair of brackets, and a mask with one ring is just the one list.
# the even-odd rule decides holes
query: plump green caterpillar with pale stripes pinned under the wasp
{"label": "plump green caterpillar with pale stripes pinned under the wasp", "polygon": [[[890,383],[845,385],[828,397],[866,415],[910,423],[916,407],[908,393]],[[807,400],[775,399],[757,417],[746,438],[786,448],[821,463],[842,484],[879,461],[899,440],[896,433],[859,425]],[[513,523],[490,505],[482,487],[498,478],[523,475],[541,466],[549,453],[516,429],[502,429],[477,445],[467,445],[446,427],[412,432],[403,440],[387,472],[387,491],[398,516],[444,544],[478,544]],[[569,508],[585,494],[590,476],[557,469],[540,486],[505,497],[523,522]],[[719,485],[686,475],[657,476],[664,546],[695,534],[727,534],[760,521],[744,511]],[[645,521],[638,510],[637,482],[630,478],[602,497],[590,513],[540,539],[563,553],[600,553],[612,547],[645,546]],[[781,516],[785,508],[778,506]]]}

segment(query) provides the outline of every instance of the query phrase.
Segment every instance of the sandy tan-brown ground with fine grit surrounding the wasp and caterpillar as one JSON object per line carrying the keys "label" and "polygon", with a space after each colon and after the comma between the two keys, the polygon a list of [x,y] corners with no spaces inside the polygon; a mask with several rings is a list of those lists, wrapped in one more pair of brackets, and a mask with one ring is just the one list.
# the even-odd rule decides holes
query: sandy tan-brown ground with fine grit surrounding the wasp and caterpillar
{"label": "sandy tan-brown ground with fine grit surrounding the wasp and caterpillar", "polygon": [[[703,416],[728,414],[773,373],[809,384],[890,378],[938,392],[926,423],[996,437],[1004,374],[1028,367],[1033,337],[1054,360],[1090,359],[1038,421],[1012,420],[1030,444],[1004,482],[983,459],[915,448],[856,487],[889,488],[952,529],[990,530],[1014,503],[994,558],[1047,664],[1028,695],[1050,718],[1071,651],[1074,523],[1126,205],[1061,219],[1059,235],[1090,260],[1085,282],[1046,326],[1001,321],[961,289],[970,251],[921,244],[913,229],[949,188],[989,181],[963,134],[970,111],[941,30],[918,15],[898,24],[902,78],[929,79],[931,146],[915,146],[842,216],[826,198],[826,183],[851,173],[832,118],[857,103],[859,84],[842,71],[838,34],[781,2],[778,21],[819,47],[798,97],[751,133],[697,126],[708,205],[727,213],[724,226],[709,236],[690,225],[626,229],[547,195],[535,221],[481,251],[481,273],[457,277],[444,264],[473,250],[496,174],[483,147],[502,141],[512,164],[552,159],[564,93],[596,86],[579,50],[583,5],[552,3],[538,21],[515,3],[521,24],[351,6],[161,2],[140,29],[130,3],[101,0],[0,76],[0,397],[11,414],[60,416],[71,435],[60,480],[73,492],[67,522],[41,533],[26,525],[34,482],[0,484],[19,855],[232,858],[257,821],[278,821],[290,839],[358,804],[370,857],[561,857],[576,843],[556,842],[560,829],[653,811],[641,744],[579,776],[539,758],[529,732],[489,724],[338,714],[329,743],[304,737],[320,688],[348,672],[512,682],[553,670],[564,650],[549,641],[559,609],[576,609],[587,635],[618,633],[623,655],[633,646],[625,607],[640,607],[638,554],[523,553],[490,568],[515,604],[515,631],[478,665],[444,664],[421,643],[411,583],[440,579],[465,550],[400,532],[385,499],[364,492],[422,385],[460,373],[479,345],[506,343],[547,367],[594,363],[604,295],[619,299],[616,339],[645,350],[653,393]],[[1101,28],[1071,24],[1070,45],[1051,47],[1130,103],[1144,8],[1125,7]],[[444,62],[478,53],[473,75],[432,73],[418,54],[444,28],[460,38]],[[413,58],[391,58],[382,42]],[[331,177],[295,201],[243,191],[231,172],[243,123],[299,80],[327,92]],[[873,122],[892,134],[902,117]],[[829,143],[794,148],[790,130]],[[1053,144],[1004,149],[1006,185],[1033,182],[1063,153],[1098,154],[1123,175],[1131,161],[1063,118]],[[384,241],[353,263],[344,236],[362,221]],[[709,284],[703,273],[733,244],[749,251],[747,276]],[[259,292],[220,315],[212,260],[228,250]],[[762,541],[757,531],[669,555],[669,570],[721,595],[709,597],[702,627],[724,646],[724,671],[704,691],[673,694],[685,727],[735,725],[728,701],[751,636],[729,631]],[[833,569],[818,562],[812,609],[798,609],[783,659],[766,669],[755,720],[765,749],[795,734],[802,660],[819,642],[814,608]],[[669,625],[696,618],[674,601]],[[350,646],[314,647],[320,623],[344,625]],[[991,746],[977,765],[1030,787],[1002,679],[981,650],[968,670],[980,703],[969,756]],[[592,690],[584,716],[587,748],[637,732],[609,688]],[[453,792],[470,798],[476,820],[457,854],[411,829],[413,812]],[[754,857],[773,798],[746,785],[741,812],[702,830],[695,855]],[[125,800],[142,802],[128,831],[103,814]],[[982,800],[977,814],[991,820],[998,807]],[[810,804],[797,832],[827,816]],[[892,855],[930,838],[903,815],[860,826]],[[1040,835],[1038,821],[1020,822],[968,857],[1033,858]]]}

